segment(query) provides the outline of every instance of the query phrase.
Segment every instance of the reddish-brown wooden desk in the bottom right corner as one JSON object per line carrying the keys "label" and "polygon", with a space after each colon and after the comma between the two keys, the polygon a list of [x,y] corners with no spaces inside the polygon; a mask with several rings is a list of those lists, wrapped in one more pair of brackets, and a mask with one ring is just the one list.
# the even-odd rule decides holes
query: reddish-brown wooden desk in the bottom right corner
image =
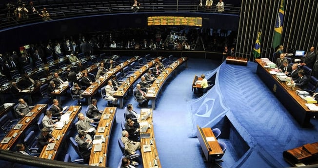
{"label": "reddish-brown wooden desk in the bottom right corner", "polygon": [[318,142],[284,151],[283,157],[286,162],[297,167],[318,164]]}

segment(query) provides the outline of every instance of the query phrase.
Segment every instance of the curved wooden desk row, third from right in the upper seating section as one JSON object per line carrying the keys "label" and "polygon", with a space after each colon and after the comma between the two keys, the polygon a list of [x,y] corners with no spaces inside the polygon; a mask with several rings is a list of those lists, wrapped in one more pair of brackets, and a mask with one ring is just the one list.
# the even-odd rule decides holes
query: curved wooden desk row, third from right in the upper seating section
{"label": "curved wooden desk row, third from right in the upper seating section", "polygon": [[100,76],[98,80],[95,81],[95,83],[91,84],[89,87],[86,88],[86,90],[83,91],[82,97],[86,98],[88,104],[91,103],[91,97],[93,97],[97,92],[98,89],[104,86],[107,81],[109,81],[112,77],[112,75],[115,75],[117,72],[122,70],[124,67],[129,66],[130,63],[133,63],[139,59],[139,56],[135,56],[130,58],[129,60],[119,64],[115,68],[112,68],[104,75]]}

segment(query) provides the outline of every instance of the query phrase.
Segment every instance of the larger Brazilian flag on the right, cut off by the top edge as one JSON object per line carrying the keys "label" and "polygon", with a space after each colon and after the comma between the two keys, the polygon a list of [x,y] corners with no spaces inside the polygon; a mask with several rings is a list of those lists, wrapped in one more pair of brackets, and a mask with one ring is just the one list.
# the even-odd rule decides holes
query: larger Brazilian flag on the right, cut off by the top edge
{"label": "larger Brazilian flag on the right, cut off by the top edge", "polygon": [[278,16],[276,18],[275,28],[274,28],[274,38],[272,47],[275,49],[278,45],[280,45],[281,33],[283,31],[283,23],[284,23],[284,0],[281,0]]}

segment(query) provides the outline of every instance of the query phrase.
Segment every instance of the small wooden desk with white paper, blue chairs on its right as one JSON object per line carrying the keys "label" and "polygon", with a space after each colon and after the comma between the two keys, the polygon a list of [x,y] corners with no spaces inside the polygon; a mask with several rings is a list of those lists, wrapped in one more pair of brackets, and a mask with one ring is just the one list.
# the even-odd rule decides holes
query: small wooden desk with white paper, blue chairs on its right
{"label": "small wooden desk with white paper, blue chairs on its right", "polygon": [[197,129],[198,140],[206,161],[214,161],[216,156],[223,154],[217,138],[213,134],[211,128],[200,128],[198,125]]}

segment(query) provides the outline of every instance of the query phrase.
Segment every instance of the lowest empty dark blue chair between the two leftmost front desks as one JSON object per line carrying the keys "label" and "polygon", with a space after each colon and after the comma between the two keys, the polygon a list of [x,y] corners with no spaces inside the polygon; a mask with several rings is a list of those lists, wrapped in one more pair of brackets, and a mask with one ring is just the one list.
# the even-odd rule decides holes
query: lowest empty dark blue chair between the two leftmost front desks
{"label": "lowest empty dark blue chair between the two leftmost front desks", "polygon": [[38,137],[34,131],[31,131],[23,140],[25,150],[31,155],[40,155],[39,148],[37,147]]}

